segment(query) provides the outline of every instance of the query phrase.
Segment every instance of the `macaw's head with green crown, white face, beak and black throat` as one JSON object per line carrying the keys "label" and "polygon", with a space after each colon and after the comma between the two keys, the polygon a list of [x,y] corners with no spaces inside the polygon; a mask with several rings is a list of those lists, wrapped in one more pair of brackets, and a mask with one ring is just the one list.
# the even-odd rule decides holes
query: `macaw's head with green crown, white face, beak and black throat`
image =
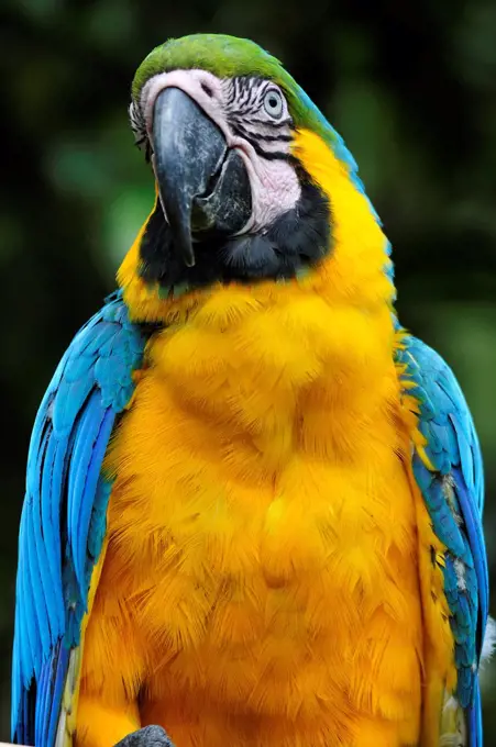
{"label": "macaw's head with green crown, white face, beak and black throat", "polygon": [[339,175],[378,228],[341,137],[251,41],[195,34],[156,47],[135,74],[130,118],[156,201],[121,267],[124,287],[131,270],[169,300],[302,278],[333,253]]}

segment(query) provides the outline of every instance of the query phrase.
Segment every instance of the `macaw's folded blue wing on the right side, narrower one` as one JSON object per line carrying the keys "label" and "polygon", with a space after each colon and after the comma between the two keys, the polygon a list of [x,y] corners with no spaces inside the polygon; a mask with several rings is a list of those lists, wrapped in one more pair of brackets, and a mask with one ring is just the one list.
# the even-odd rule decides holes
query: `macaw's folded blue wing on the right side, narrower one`
{"label": "macaw's folded blue wing on the right side, narrower one", "polygon": [[406,337],[397,355],[409,392],[419,403],[419,428],[434,468],[428,469],[414,454],[414,475],[432,527],[447,548],[444,592],[451,612],[456,696],[465,710],[470,747],[482,747],[477,669],[488,614],[488,575],[481,448],[463,393],[442,358],[415,337]]}

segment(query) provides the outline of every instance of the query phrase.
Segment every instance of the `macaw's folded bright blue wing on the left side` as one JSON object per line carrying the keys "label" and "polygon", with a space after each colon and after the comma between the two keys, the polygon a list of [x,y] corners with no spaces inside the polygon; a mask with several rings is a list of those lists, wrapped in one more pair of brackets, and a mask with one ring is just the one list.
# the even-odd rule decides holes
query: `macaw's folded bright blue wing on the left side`
{"label": "macaw's folded bright blue wing on the left side", "polygon": [[12,661],[12,738],[24,745],[55,742],[70,650],[104,538],[111,482],[101,466],[144,344],[115,294],[74,338],[35,419]]}

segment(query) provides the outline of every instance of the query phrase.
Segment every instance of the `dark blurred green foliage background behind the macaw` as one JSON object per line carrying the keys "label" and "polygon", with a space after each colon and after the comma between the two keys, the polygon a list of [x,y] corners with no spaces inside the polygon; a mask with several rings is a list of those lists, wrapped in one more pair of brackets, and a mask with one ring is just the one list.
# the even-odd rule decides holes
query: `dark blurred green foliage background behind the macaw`
{"label": "dark blurred green foliage background behind the macaw", "polygon": [[[254,38],[344,136],[393,243],[401,321],[445,356],[472,408],[495,571],[494,0],[2,0],[0,18],[0,739],[30,431],[58,359],[112,290],[151,208],[126,107],[135,67],[169,36]],[[494,745],[495,666],[483,685]]]}

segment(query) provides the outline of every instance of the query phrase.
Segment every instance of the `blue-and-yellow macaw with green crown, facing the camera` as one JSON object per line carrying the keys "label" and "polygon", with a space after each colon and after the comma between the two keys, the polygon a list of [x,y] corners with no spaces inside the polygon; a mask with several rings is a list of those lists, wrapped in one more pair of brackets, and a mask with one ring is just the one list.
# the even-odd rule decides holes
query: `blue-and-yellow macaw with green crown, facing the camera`
{"label": "blue-and-yellow macaw with green crown, facing the camera", "polygon": [[481,450],[350,152],[231,36],[130,116],[156,198],[34,424],[12,738],[481,747]]}

